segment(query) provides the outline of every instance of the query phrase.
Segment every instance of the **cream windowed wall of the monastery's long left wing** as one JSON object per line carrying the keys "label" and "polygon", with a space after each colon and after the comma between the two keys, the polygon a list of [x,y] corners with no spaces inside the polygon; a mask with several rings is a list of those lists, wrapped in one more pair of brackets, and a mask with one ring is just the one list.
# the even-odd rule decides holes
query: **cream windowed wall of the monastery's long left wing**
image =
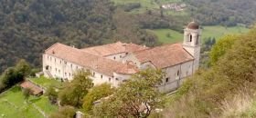
{"label": "cream windowed wall of the monastery's long left wing", "polygon": [[[43,72],[45,76],[48,76],[46,74],[46,67],[48,66],[48,72],[52,74],[54,78],[64,79],[71,81],[73,79],[73,75],[80,69],[88,69],[85,68],[79,64],[74,64],[71,62],[64,61],[63,59],[60,59],[58,57],[43,54]],[[94,70],[91,71],[91,79],[93,84],[112,84],[112,86],[117,87],[119,82],[123,82],[123,79],[127,79],[127,75],[122,74],[116,74],[115,77],[101,74],[99,72],[96,72]],[[120,78],[120,80],[116,80],[116,78]],[[129,77],[128,77],[129,78]]]}

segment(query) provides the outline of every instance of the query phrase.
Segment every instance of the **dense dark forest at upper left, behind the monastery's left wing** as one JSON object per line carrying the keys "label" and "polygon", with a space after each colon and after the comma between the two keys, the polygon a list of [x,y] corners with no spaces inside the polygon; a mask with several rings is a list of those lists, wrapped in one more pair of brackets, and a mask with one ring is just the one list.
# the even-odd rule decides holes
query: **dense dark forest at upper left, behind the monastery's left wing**
{"label": "dense dark forest at upper left, behind the monastery's left wing", "polygon": [[[80,48],[122,38],[115,34],[122,27],[114,24],[114,11],[109,0],[1,0],[0,72],[21,58],[40,65],[43,50],[56,42]],[[130,32],[129,42],[146,44],[147,33]]]}

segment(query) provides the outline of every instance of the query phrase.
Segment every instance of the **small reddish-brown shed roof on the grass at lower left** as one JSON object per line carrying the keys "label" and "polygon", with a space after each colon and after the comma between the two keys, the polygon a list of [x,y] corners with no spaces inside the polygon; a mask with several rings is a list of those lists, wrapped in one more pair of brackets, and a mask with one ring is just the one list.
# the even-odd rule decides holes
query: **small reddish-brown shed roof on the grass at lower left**
{"label": "small reddish-brown shed roof on the grass at lower left", "polygon": [[23,82],[22,84],[20,84],[20,86],[22,88],[29,88],[33,94],[38,94],[38,93],[42,93],[43,89],[41,89],[40,87],[38,87],[36,84],[33,84],[29,81]]}

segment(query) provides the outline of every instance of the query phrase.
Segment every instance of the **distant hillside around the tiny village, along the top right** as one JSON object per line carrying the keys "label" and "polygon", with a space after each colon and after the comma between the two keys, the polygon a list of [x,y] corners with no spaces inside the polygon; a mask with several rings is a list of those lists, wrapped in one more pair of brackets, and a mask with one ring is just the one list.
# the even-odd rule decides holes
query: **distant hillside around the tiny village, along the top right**
{"label": "distant hillside around the tiny village, along the top right", "polygon": [[[251,25],[256,19],[254,0],[112,0],[115,5],[129,8],[133,14],[163,11],[164,15],[189,16],[202,25]],[[163,5],[187,4],[185,7],[161,8]]]}

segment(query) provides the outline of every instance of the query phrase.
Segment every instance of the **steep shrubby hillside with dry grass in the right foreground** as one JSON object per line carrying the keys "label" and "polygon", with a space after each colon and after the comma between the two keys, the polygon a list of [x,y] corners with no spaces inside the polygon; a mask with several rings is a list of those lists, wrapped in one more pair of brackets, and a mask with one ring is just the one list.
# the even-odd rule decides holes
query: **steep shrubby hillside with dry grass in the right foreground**
{"label": "steep shrubby hillside with dry grass in the right foreground", "polygon": [[255,32],[225,36],[210,53],[211,67],[187,79],[169,99],[165,117],[254,118]]}

